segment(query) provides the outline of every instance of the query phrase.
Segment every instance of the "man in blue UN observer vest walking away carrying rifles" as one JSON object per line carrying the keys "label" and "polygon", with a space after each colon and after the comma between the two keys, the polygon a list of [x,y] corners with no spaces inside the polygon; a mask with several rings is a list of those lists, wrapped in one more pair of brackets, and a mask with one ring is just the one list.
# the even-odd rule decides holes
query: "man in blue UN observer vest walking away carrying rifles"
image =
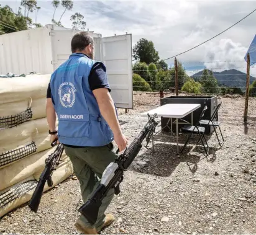
{"label": "man in blue UN observer vest walking away carrying rifles", "polygon": [[[56,69],[47,91],[47,122],[51,142],[63,144],[80,182],[83,202],[98,186],[102,174],[117,155],[112,151],[114,140],[123,151],[127,138],[122,134],[117,110],[109,92],[106,68],[94,61],[94,42],[87,32],[79,32],[71,40],[70,58]],[[58,116],[58,130],[56,115]],[[98,234],[114,221],[105,215],[114,197],[110,190],[100,207],[98,219],[90,224],[81,215],[75,226],[85,234]]]}

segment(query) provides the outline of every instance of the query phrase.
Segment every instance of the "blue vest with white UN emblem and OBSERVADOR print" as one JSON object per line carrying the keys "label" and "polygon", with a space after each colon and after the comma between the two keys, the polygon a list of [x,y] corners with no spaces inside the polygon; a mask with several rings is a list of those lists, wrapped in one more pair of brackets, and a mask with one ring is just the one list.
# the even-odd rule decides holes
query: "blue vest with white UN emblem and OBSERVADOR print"
{"label": "blue vest with white UN emblem and OBSERVADOR print", "polygon": [[103,146],[113,140],[113,133],[89,88],[89,73],[96,62],[83,54],[73,53],[51,76],[60,143]]}

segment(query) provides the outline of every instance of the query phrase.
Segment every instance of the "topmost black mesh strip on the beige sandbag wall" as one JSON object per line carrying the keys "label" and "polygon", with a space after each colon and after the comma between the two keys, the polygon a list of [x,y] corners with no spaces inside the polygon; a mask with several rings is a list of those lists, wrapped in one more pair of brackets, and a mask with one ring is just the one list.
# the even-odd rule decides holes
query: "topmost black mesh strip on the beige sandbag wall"
{"label": "topmost black mesh strip on the beige sandbag wall", "polygon": [[0,128],[12,128],[32,118],[32,110],[28,107],[24,112],[7,117],[0,117]]}

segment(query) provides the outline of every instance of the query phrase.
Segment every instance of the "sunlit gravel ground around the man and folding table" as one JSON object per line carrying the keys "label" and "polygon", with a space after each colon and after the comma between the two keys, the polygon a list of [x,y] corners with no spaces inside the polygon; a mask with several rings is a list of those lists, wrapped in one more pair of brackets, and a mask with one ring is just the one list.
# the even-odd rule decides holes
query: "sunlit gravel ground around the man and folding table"
{"label": "sunlit gravel ground around the man and folding table", "polygon": [[[116,220],[102,234],[256,234],[256,99],[249,99],[247,125],[244,97],[218,99],[224,146],[212,135],[208,157],[200,147],[176,156],[175,138],[155,140],[154,153],[152,143],[143,147],[107,208]],[[129,142],[147,122],[139,113],[159,105],[159,95],[134,92],[134,110],[119,110]],[[43,194],[37,214],[25,204],[4,216],[0,233],[78,234],[80,200],[73,175]]]}

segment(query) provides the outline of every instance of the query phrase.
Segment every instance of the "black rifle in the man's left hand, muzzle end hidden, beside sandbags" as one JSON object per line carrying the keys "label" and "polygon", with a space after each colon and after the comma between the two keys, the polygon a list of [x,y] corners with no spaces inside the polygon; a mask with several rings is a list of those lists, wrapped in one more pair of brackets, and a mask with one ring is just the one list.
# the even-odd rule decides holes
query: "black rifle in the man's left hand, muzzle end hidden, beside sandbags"
{"label": "black rifle in the man's left hand, muzzle end hidden, beside sandbags", "polygon": [[[55,146],[56,144],[57,141],[54,141],[51,145]],[[43,188],[45,186],[46,180],[49,187],[52,187],[53,185],[52,173],[54,170],[56,170],[55,167],[60,164],[60,157],[62,156],[63,150],[63,145],[59,143],[55,151],[50,154],[47,159],[45,159],[45,169],[43,169],[43,172],[40,175],[37,187],[35,188],[35,191],[29,202],[29,208],[35,213],[37,213],[39,208],[39,203],[43,194]]]}

